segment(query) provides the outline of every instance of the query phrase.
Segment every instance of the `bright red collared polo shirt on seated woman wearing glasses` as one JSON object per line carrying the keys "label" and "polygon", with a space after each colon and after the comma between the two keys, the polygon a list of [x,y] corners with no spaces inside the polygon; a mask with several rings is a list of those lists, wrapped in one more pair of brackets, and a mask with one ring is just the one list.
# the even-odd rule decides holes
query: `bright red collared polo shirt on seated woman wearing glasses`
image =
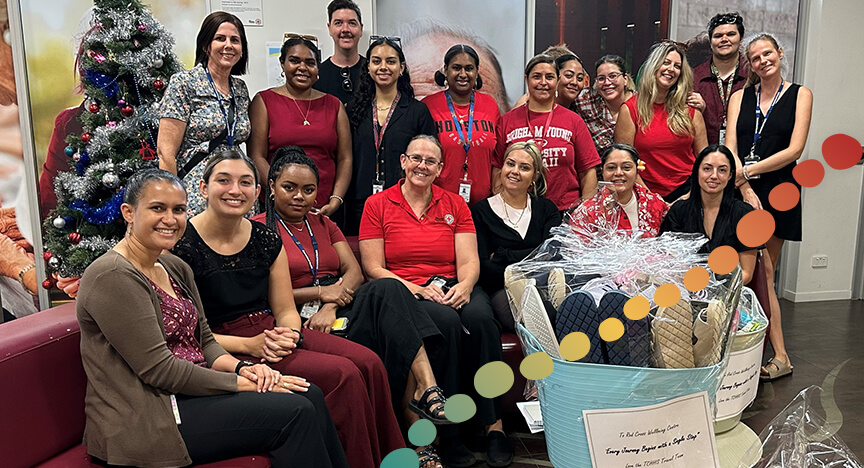
{"label": "bright red collared polo shirt on seated woman wearing glasses", "polygon": [[405,196],[402,179],[366,200],[360,240],[384,239],[385,268],[422,285],[434,275],[456,277],[456,234],[475,232],[471,210],[459,195],[432,186],[432,201],[417,219]]}

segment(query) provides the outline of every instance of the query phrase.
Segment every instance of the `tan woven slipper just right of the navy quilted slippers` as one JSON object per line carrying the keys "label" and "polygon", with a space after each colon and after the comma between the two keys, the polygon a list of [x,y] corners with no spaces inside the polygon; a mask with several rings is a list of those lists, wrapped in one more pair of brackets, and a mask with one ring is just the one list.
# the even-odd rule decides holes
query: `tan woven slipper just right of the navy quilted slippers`
{"label": "tan woven slipper just right of the navy quilted slippers", "polygon": [[654,346],[664,369],[688,369],[693,361],[693,312],[681,299],[672,307],[660,307],[651,324]]}

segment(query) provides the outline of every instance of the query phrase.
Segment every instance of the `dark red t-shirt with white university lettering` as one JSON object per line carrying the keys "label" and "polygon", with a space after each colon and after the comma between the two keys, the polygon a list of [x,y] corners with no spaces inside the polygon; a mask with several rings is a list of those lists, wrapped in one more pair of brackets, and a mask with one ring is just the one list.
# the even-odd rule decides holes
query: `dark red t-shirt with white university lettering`
{"label": "dark red t-shirt with white university lettering", "polygon": [[599,165],[600,156],[582,117],[570,109],[555,105],[547,131],[543,127],[548,116],[548,112],[528,112],[527,104],[501,116],[498,148],[492,165],[499,168],[503,166],[504,152],[512,143],[528,140],[540,143],[543,164],[549,170],[546,198],[563,211],[579,203],[582,195],[579,173]]}

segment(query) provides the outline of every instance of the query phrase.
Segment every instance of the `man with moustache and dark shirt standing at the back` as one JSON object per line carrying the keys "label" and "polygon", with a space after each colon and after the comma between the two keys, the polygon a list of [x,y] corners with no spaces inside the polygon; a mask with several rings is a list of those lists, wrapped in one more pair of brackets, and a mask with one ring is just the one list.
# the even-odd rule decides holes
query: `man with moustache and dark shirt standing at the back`
{"label": "man with moustache and dark shirt standing at the back", "polygon": [[313,88],[348,103],[357,87],[366,59],[357,51],[363,35],[360,7],[351,0],[333,0],[327,5],[327,31],[333,38],[333,55],[318,67]]}

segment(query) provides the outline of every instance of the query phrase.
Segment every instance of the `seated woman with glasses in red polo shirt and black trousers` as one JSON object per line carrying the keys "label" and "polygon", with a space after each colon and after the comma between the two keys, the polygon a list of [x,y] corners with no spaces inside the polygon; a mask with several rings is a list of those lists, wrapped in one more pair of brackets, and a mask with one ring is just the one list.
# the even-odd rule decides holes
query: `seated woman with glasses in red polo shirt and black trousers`
{"label": "seated woman with glasses in red polo shirt and black trousers", "polygon": [[[459,195],[434,185],[445,164],[442,154],[435,137],[414,137],[399,161],[405,178],[366,202],[360,253],[367,277],[401,281],[444,335],[446,357],[432,368],[449,398],[473,388],[477,370],[502,355],[501,326],[477,285],[480,260],[471,211]],[[469,379],[460,382],[460,373]],[[485,426],[488,462],[507,466],[513,448],[503,432],[500,397],[474,396],[476,421]],[[438,433],[446,466],[475,463],[455,427]]]}

